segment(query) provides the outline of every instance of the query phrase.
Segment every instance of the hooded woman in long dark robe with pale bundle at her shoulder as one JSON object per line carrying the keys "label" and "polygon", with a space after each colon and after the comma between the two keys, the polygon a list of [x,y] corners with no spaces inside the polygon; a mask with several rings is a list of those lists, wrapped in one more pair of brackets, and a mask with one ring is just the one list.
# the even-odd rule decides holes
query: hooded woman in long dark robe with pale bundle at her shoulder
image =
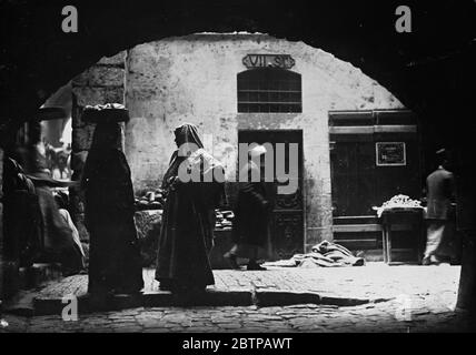
{"label": "hooded woman in long dark robe with pale bundle at her shoulder", "polygon": [[[224,169],[204,150],[194,124],[175,130],[179,148],[163,176],[167,200],[162,214],[156,280],[161,290],[205,291],[215,283],[209,263],[215,209],[224,196]],[[184,173],[196,179],[187,181]],[[202,182],[198,182],[197,178]]]}

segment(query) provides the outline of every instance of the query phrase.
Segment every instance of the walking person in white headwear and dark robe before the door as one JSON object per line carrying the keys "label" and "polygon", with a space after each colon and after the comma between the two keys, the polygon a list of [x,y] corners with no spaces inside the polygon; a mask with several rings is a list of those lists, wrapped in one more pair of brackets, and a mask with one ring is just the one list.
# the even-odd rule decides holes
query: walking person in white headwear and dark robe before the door
{"label": "walking person in white headwear and dark robe before the door", "polygon": [[[264,183],[264,156],[266,148],[256,145],[248,151],[248,163],[240,172],[238,199],[235,206],[232,241],[235,245],[224,255],[232,268],[240,268],[237,257],[248,258],[247,270],[266,270],[258,264],[260,255],[266,255],[265,245],[268,236],[269,201]],[[261,160],[260,169],[252,161]],[[255,173],[254,173],[255,172]],[[259,173],[260,181],[251,176]]]}

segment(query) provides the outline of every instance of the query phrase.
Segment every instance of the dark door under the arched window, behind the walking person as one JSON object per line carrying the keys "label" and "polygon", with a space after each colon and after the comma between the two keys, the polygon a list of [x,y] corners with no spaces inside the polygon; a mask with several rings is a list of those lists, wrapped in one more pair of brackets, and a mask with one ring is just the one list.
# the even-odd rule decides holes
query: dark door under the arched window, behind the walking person
{"label": "dark door under the arched window, behind the walking person", "polygon": [[272,203],[270,230],[268,234],[268,250],[272,260],[289,258],[304,251],[304,207],[303,207],[303,131],[301,130],[241,130],[238,131],[238,143],[269,143],[277,152],[277,143],[285,143],[285,168],[289,172],[289,145],[297,143],[298,171],[297,189],[292,193],[278,193],[279,185],[289,182],[279,182],[276,179],[267,183],[267,192]]}

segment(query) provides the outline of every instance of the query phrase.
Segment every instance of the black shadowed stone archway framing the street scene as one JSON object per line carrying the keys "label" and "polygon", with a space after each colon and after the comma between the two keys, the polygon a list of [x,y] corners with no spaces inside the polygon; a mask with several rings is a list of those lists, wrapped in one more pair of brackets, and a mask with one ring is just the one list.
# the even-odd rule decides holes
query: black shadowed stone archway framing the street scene
{"label": "black shadowed stone archway framing the street scene", "polygon": [[[60,30],[60,13],[65,4],[71,3],[79,10],[80,31],[67,34]],[[469,55],[474,53],[474,2],[415,4],[415,13],[425,14],[419,17],[419,30],[406,38],[394,31],[395,7],[381,1],[375,2],[373,10],[370,6],[334,2],[314,11],[306,1],[278,2],[272,10],[267,3],[248,0],[210,1],[208,7],[195,1],[161,6],[151,1],[120,6],[113,1],[51,1],[33,8],[20,1],[3,3],[1,22],[10,28],[7,36],[13,36],[14,41],[9,41],[1,62],[6,79],[1,131],[6,134],[7,124],[14,129],[17,123],[33,116],[49,94],[103,55],[151,39],[200,31],[268,32],[303,40],[355,63],[414,109],[432,133],[429,150],[438,144],[455,148],[460,158],[460,186],[468,191],[462,202],[466,213],[474,212],[468,152],[475,131],[470,120],[472,91],[466,90],[474,71]],[[453,14],[449,19],[448,13]],[[458,123],[453,124],[452,120],[447,124],[448,116],[458,119]],[[474,220],[465,216],[462,222],[462,227],[473,235]]]}

